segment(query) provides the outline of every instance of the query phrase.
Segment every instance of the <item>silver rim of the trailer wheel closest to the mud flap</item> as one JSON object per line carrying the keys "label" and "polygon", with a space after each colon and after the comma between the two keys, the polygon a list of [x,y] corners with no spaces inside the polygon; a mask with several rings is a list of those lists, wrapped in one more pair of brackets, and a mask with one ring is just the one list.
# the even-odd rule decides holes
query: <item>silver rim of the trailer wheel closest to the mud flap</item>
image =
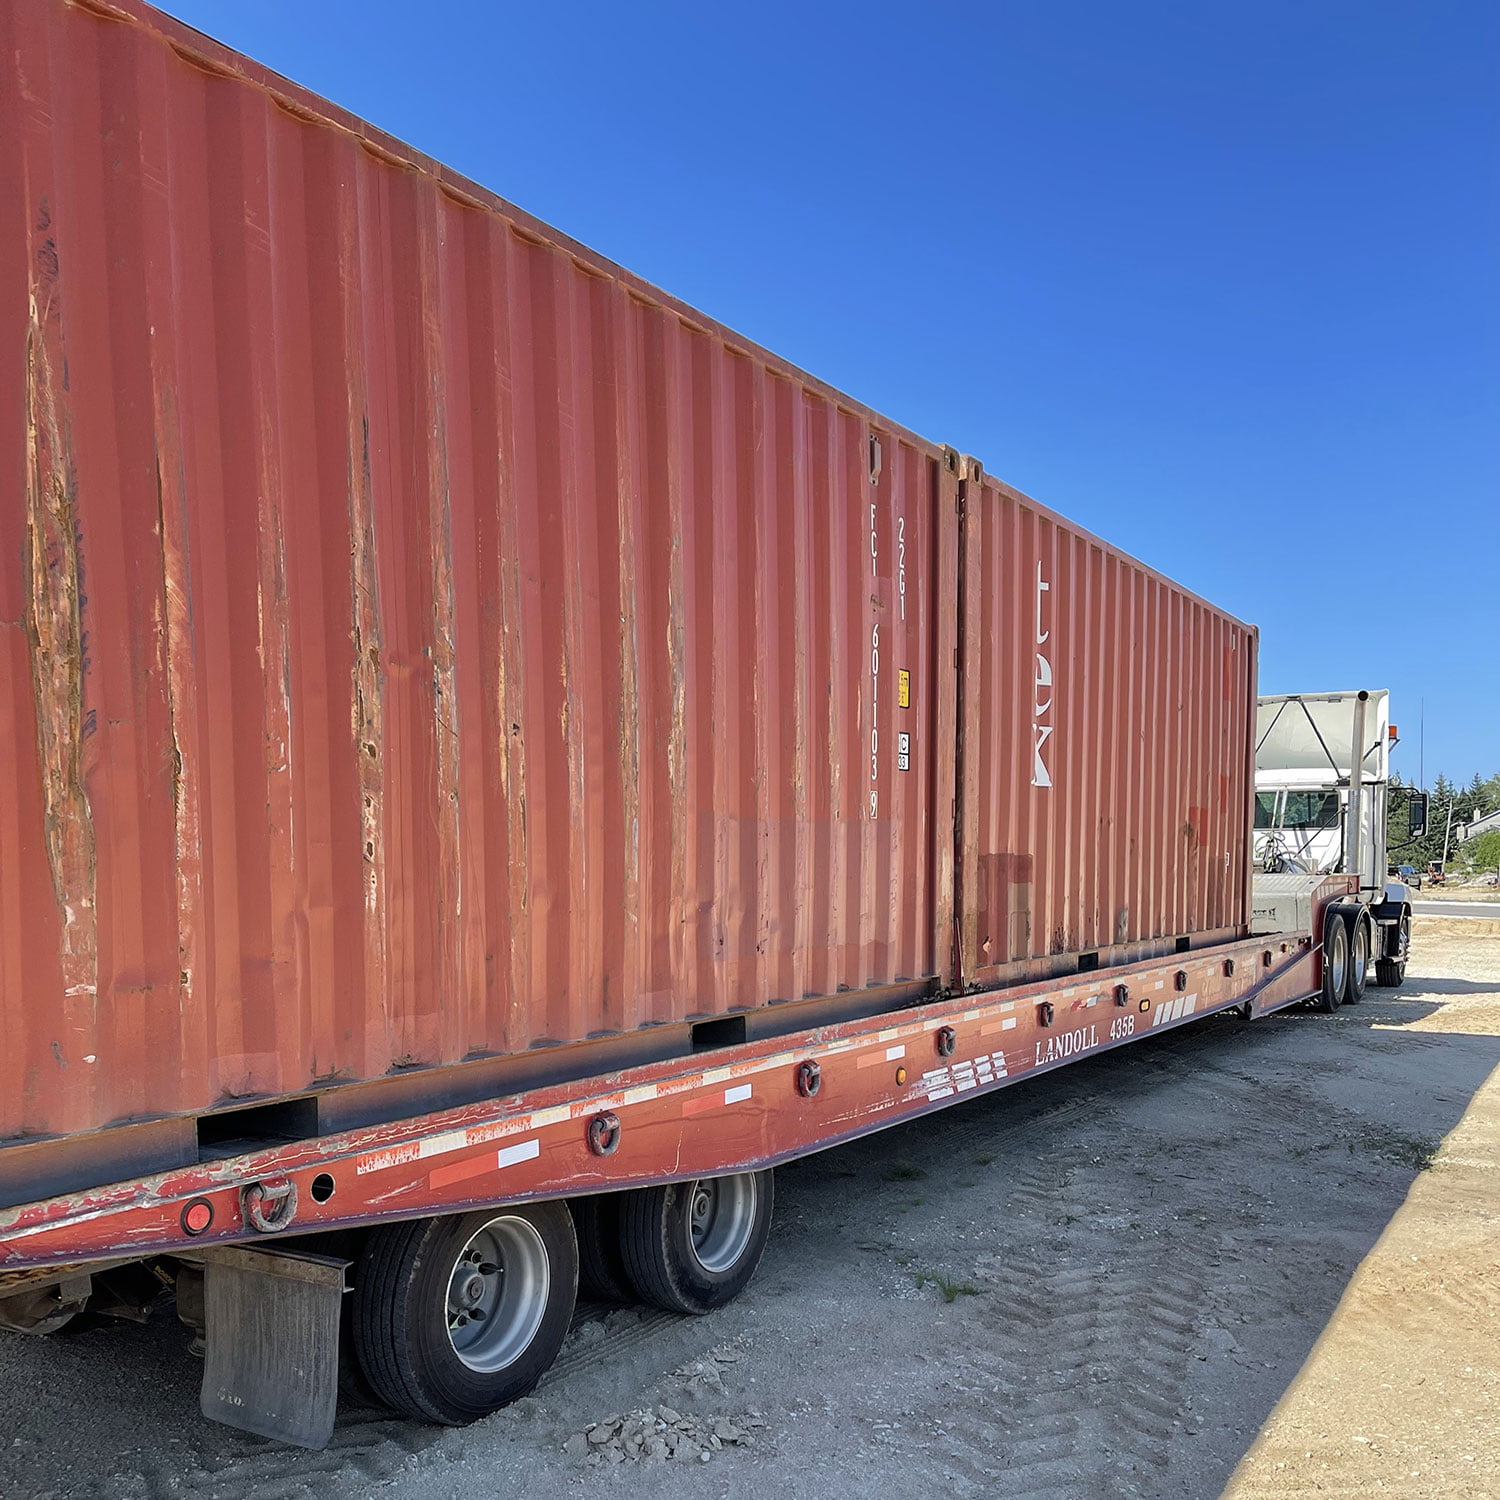
{"label": "silver rim of the trailer wheel closest to the mud flap", "polygon": [[550,1290],[548,1248],[536,1226],[514,1214],[490,1220],[448,1274],[453,1353],[480,1374],[513,1365],[537,1336]]}

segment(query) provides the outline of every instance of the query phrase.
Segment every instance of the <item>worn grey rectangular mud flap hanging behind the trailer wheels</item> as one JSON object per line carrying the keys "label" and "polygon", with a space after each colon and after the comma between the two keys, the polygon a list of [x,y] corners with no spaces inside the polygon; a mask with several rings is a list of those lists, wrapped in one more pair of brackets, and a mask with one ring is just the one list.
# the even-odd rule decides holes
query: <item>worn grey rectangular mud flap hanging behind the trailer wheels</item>
{"label": "worn grey rectangular mud flap hanging behind the trailer wheels", "polygon": [[202,1414],[322,1448],[339,1401],[339,1308],[348,1262],[225,1245],[204,1251]]}

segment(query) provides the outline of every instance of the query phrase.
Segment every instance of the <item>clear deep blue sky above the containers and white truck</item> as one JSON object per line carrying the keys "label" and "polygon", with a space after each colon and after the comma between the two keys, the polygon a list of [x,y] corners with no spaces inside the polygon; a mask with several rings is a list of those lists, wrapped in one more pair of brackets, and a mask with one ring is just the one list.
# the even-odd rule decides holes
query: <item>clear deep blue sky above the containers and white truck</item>
{"label": "clear deep blue sky above the containers and white truck", "polygon": [[1500,771],[1500,6],[172,0]]}

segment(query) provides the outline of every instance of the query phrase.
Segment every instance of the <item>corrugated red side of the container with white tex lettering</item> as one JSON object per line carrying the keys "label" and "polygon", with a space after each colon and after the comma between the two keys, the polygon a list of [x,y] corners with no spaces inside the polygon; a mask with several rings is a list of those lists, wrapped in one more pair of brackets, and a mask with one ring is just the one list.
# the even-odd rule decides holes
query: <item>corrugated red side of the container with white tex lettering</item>
{"label": "corrugated red side of the container with white tex lettering", "polygon": [[966,982],[1242,934],[1254,630],[987,476],[963,506]]}

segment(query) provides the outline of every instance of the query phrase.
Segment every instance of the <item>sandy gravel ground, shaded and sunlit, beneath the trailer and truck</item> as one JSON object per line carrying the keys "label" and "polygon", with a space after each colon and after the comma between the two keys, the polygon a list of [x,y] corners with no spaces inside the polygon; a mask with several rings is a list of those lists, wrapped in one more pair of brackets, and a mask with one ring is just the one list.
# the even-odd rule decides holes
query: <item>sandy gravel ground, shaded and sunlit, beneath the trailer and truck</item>
{"label": "sandy gravel ground, shaded and sunlit, beneath the trailer and truck", "polygon": [[1420,927],[1359,1008],[1212,1018],[783,1168],[740,1302],[582,1308],[465,1431],[346,1410],[294,1452],[198,1418],[170,1317],[3,1338],[0,1496],[1500,1494],[1500,938]]}

